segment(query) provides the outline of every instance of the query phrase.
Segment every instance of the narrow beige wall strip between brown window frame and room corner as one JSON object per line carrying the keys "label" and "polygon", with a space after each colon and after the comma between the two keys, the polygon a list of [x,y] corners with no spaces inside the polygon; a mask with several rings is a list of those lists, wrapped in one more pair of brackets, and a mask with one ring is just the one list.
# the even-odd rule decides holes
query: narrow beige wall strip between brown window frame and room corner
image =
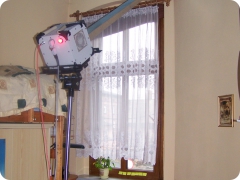
{"label": "narrow beige wall strip between brown window frame and room corner", "polygon": [[164,179],[174,179],[175,163],[175,25],[172,1],[164,9]]}

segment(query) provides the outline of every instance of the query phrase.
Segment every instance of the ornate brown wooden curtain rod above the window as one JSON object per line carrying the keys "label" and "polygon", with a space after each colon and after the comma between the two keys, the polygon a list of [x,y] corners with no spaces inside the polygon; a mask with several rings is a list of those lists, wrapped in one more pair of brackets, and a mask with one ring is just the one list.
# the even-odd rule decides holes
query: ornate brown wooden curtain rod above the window
{"label": "ornate brown wooden curtain rod above the window", "polygon": [[[146,7],[146,6],[155,6],[155,5],[158,5],[158,4],[163,4],[164,2],[166,2],[166,5],[169,6],[170,1],[171,0],[144,1],[144,2],[139,3],[133,9],[142,8],[142,7]],[[109,13],[116,8],[117,8],[117,6],[114,6],[114,7],[98,9],[98,10],[93,10],[93,11],[87,11],[87,12],[79,12],[79,10],[77,10],[75,13],[70,14],[69,17],[75,17],[76,20],[79,21],[79,16],[86,17],[86,16],[93,16],[93,15],[98,15],[98,14],[106,14],[106,13]]]}

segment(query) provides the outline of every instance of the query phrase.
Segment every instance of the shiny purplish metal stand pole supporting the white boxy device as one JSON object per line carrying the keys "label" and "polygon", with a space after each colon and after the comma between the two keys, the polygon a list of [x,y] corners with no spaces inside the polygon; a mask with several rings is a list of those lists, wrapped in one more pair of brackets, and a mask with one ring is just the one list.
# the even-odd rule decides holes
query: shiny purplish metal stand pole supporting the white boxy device
{"label": "shiny purplish metal stand pole supporting the white boxy device", "polygon": [[67,127],[66,127],[64,180],[68,180],[71,117],[72,117],[72,98],[73,98],[73,94],[74,94],[74,90],[73,90],[73,88],[70,88],[69,91],[68,91],[68,119],[67,119]]}

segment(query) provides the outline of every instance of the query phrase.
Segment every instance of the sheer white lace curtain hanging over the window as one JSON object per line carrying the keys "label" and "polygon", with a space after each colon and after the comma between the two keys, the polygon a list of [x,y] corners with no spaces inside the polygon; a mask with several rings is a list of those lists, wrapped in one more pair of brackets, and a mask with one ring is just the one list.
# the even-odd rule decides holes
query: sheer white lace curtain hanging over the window
{"label": "sheer white lace curtain hanging over the window", "polygon": [[[103,15],[85,17],[88,25]],[[158,124],[158,7],[126,13],[93,41],[102,52],[82,71],[77,156],[155,164]]]}

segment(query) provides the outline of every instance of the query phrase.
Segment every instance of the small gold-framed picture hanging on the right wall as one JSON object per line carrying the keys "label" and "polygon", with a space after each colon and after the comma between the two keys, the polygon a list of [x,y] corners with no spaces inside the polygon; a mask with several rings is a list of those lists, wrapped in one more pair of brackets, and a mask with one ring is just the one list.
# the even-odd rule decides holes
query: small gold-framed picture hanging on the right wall
{"label": "small gold-framed picture hanging on the right wall", "polygon": [[233,127],[233,94],[218,96],[218,127]]}

